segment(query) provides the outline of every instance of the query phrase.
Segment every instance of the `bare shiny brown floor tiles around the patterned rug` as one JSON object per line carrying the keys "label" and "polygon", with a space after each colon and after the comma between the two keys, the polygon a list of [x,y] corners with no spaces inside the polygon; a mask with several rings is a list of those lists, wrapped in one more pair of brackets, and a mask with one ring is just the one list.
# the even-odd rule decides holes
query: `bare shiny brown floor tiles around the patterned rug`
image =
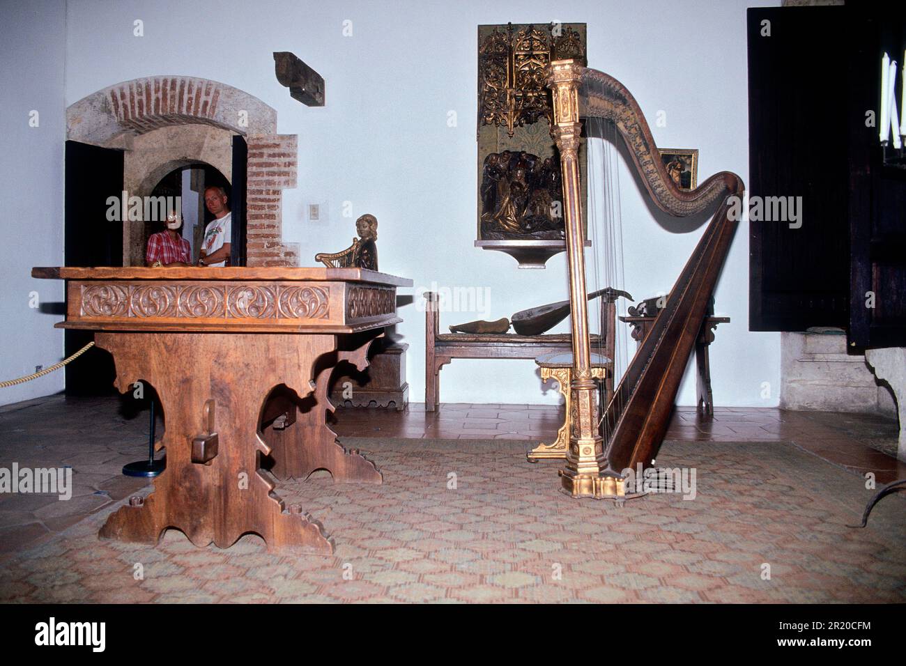
{"label": "bare shiny brown floor tiles around the patterned rug", "polygon": [[[147,452],[147,411],[127,398],[64,399],[52,396],[0,409],[0,467],[71,466],[73,497],[0,494],[0,559],[51,538],[86,516],[145,487],[123,477],[122,466]],[[562,409],[541,405],[444,404],[426,412],[337,410],[333,430],[347,438],[510,439],[531,449],[551,441]],[[159,432],[162,427],[159,425]],[[873,415],[718,409],[712,420],[695,410],[674,414],[667,439],[791,442],[853,474],[872,472],[877,483],[906,477],[906,465],[882,453],[895,450],[897,424]],[[880,450],[879,450],[880,449]]]}

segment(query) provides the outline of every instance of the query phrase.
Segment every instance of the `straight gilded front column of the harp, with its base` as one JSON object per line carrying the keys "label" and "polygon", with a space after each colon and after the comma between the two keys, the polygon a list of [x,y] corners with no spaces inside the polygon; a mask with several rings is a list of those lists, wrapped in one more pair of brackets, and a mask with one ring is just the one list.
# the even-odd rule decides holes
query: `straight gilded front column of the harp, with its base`
{"label": "straight gilded front column of the harp, with its base", "polygon": [[560,150],[564,187],[566,257],[569,267],[569,300],[572,308],[573,381],[566,466],[560,470],[564,490],[573,497],[622,497],[622,479],[607,474],[598,391],[592,378],[585,286],[585,252],[582,233],[582,189],[579,182],[579,78],[583,67],[573,60],[550,65],[548,87],[554,92],[554,140]]}

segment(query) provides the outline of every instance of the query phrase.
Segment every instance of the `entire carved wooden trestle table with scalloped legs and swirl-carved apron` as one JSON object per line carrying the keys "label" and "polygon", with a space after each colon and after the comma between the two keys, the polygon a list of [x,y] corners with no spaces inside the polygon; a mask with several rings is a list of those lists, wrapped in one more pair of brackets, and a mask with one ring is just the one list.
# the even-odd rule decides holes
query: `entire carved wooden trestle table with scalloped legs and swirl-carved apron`
{"label": "entire carved wooden trestle table with scalloped legs and swirl-carved apron", "polygon": [[[116,387],[157,391],[166,417],[167,468],[100,535],[155,544],[168,527],[198,546],[233,545],[248,532],[270,550],[329,554],[333,541],[301,507],[287,510],[269,477],[381,483],[325,422],[337,362],[361,369],[385,326],[399,323],[396,288],[412,281],[359,268],[34,268],[67,281],[60,328],[96,331]],[[279,400],[270,400],[272,394]],[[276,405],[276,407],[275,407]],[[278,412],[270,413],[267,412]],[[265,442],[262,426],[284,430]],[[288,428],[286,426],[289,426]],[[270,472],[259,459],[272,461]]]}

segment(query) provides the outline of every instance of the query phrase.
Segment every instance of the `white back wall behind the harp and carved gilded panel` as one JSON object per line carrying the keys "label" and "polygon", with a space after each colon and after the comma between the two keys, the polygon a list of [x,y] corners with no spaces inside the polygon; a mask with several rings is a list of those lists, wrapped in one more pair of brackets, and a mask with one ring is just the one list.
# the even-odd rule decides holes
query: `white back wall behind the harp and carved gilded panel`
{"label": "white back wall behind the harp and carved gilded panel", "polygon": [[[473,247],[477,24],[587,23],[591,66],[626,84],[650,119],[667,112],[666,127],[652,127],[659,145],[698,148],[699,179],[723,169],[746,179],[748,5],[777,3],[593,0],[558,3],[552,15],[549,2],[525,0],[72,2],[65,103],[155,74],[200,76],[250,92],[277,110],[281,133],[299,135],[299,187],[284,190],[284,239],[301,243],[304,265],[313,265],[316,252],[346,246],[354,217],[370,212],[381,223],[381,270],[411,277],[415,292],[432,283],[488,287],[487,316],[497,319],[566,298],[565,256],[551,259],[544,271],[525,271],[508,256]],[[133,34],[137,20],[144,36]],[[344,21],[352,22],[352,36],[344,36]],[[41,39],[51,42],[46,27],[40,30]],[[326,107],[308,108],[290,98],[276,82],[274,51],[292,51],[323,75]],[[448,126],[449,111],[456,111],[456,127]],[[59,163],[53,169],[58,178]],[[626,286],[639,298],[668,291],[702,227],[675,233],[682,223],[652,217],[625,165],[620,179]],[[42,196],[35,192],[34,200],[44,198],[45,188],[40,189]],[[62,197],[59,186],[47,191]],[[308,222],[306,204],[325,201],[329,222]],[[342,217],[345,201],[352,202],[352,218]],[[47,212],[42,208],[44,223],[54,219],[60,227],[59,216]],[[40,246],[53,254],[53,247]],[[27,275],[27,267],[22,270]],[[779,335],[747,332],[745,224],[717,302],[718,314],[731,316],[733,323],[718,330],[711,350],[716,401],[776,405]],[[410,395],[420,401],[424,314],[414,305],[400,314],[406,321],[398,333],[410,343]],[[484,314],[443,313],[441,325]],[[565,324],[560,330],[567,330]],[[679,395],[681,404],[694,401],[690,379]],[[769,398],[762,397],[765,381],[773,389]],[[456,361],[441,373],[441,385],[444,401],[558,401],[555,391],[542,391],[531,361]]]}

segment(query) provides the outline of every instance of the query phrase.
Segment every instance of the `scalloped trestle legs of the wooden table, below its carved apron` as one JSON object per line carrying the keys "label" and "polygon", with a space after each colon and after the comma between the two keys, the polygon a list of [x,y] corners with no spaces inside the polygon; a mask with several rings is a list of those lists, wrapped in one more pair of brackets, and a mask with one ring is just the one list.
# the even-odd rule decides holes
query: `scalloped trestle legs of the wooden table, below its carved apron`
{"label": "scalloped trestle legs of the wooden table, below its carved apron", "polygon": [[[318,359],[336,350],[335,335],[118,332],[96,333],[95,342],[113,355],[120,392],[131,391],[137,381],[157,390],[166,417],[159,448],[167,449],[167,468],[154,491],[112,514],[101,537],[156,544],[164,530],[175,527],[198,546],[226,548],[251,532],[272,551],[333,552],[323,526],[300,507],[287,511],[275,483],[259,468],[259,457],[272,448],[259,436],[258,424],[275,386],[285,384],[303,396],[311,392]],[[318,401],[325,390],[319,374]],[[325,424],[312,424],[293,448],[313,444],[313,450],[323,450],[331,434]],[[333,447],[331,456],[299,458],[309,466],[335,466],[341,475],[362,466],[357,456]]]}

